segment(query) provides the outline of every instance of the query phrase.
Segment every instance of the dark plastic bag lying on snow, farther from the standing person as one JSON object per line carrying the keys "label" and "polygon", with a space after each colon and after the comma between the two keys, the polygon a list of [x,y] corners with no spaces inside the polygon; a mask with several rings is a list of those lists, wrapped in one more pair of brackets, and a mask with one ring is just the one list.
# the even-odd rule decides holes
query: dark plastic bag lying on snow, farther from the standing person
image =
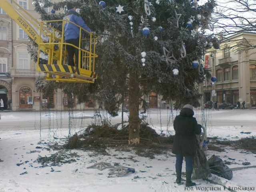
{"label": "dark plastic bag lying on snow, farther from the standing person", "polygon": [[209,163],[212,174],[216,174],[228,180],[232,179],[233,177],[232,170],[230,170],[228,166],[224,165],[224,162],[221,158],[213,155],[208,160],[208,163]]}

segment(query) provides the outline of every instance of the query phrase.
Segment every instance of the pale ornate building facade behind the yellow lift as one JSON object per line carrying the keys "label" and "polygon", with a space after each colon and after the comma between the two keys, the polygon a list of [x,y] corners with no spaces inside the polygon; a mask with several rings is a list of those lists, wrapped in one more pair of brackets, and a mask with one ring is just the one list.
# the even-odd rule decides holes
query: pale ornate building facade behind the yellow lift
{"label": "pale ornate building facade behind the yellow lift", "polygon": [[[40,16],[34,10],[33,0],[16,0],[36,20]],[[1,6],[1,5],[0,5]],[[50,8],[46,8],[50,12]],[[41,110],[52,108],[85,109],[96,107],[96,102],[76,104],[76,97],[68,97],[62,90],[56,90],[52,96],[36,90],[35,81],[44,77],[36,71],[36,62],[28,52],[28,35],[16,22],[0,8],[0,98],[4,100],[4,109]]]}

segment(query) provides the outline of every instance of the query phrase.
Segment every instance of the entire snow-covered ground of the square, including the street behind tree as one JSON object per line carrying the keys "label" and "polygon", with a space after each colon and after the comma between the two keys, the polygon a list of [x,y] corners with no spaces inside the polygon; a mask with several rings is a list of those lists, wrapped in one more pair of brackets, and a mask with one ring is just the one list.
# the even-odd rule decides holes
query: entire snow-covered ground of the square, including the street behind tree
{"label": "entire snow-covered ground of the square, including the street behind tree", "polygon": [[[0,112],[0,192],[183,192],[183,191],[228,191],[223,186],[205,180],[194,180],[198,185],[186,188],[174,183],[175,156],[168,152],[155,155],[154,159],[141,157],[130,151],[120,152],[108,148],[107,154],[80,150],[54,150],[50,145],[62,144],[69,134],[74,134],[88,124],[99,121],[93,111],[74,112]],[[150,109],[146,114],[148,124],[157,132],[174,134],[172,120],[178,111]],[[120,122],[121,116],[109,119],[112,124]],[[124,121],[128,120],[124,114]],[[208,137],[238,140],[256,136],[256,110],[195,110],[198,123],[207,128]],[[241,132],[251,132],[243,134]],[[49,145],[50,144],[50,145]],[[256,165],[256,154],[244,150],[233,150],[223,146],[223,152],[208,150],[207,158],[213,154],[231,162],[229,168],[246,167],[243,163]],[[60,166],[43,166],[38,157],[63,154],[75,162]],[[76,156],[73,156],[76,153]],[[110,175],[110,168],[99,170],[88,168],[98,162],[111,166],[135,169],[127,176]],[[185,166],[183,166],[185,172]],[[233,171],[232,180],[212,175],[210,178],[235,191],[256,191],[256,168]],[[183,177],[184,178],[184,177]],[[238,190],[238,187],[243,190]],[[241,188],[240,188],[241,189]]]}

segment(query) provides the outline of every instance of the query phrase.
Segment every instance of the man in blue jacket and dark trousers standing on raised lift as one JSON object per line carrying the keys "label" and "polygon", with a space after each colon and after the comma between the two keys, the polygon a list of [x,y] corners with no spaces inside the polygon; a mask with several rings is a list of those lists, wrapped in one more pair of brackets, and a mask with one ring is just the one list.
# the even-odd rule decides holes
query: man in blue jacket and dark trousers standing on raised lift
{"label": "man in blue jacket and dark trousers standing on raised lift", "polygon": [[[72,2],[68,2],[66,5],[68,8],[67,14],[64,16],[63,20],[71,21],[81,26],[86,31],[91,32],[90,28],[85,24],[82,17],[76,12],[76,6]],[[79,47],[79,32],[80,29],[78,26],[74,25],[71,22],[65,22],[64,24],[64,36],[66,43],[73,44],[74,46]],[[78,67],[78,49],[74,48],[71,45],[66,45],[68,52],[68,65],[75,66],[74,64],[74,55],[76,56],[76,67]],[[81,53],[81,62],[82,62],[82,53]]]}

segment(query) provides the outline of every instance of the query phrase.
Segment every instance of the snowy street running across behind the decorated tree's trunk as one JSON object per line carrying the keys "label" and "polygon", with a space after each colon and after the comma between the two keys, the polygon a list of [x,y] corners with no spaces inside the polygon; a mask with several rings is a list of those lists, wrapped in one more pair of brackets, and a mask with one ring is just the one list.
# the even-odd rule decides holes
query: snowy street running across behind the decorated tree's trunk
{"label": "snowy street running across behind the decorated tree's trunk", "polygon": [[[256,128],[256,110],[194,110],[198,123],[207,126],[244,126]],[[0,112],[0,130],[34,130],[34,129],[81,129],[89,124],[103,120],[112,124],[122,122],[121,114],[110,118],[106,112],[100,112],[93,118],[94,111],[38,111],[38,112]],[[154,127],[172,127],[172,122],[179,111],[169,109],[150,109],[145,114],[146,122]],[[128,114],[124,113],[124,121]],[[203,123],[204,122],[204,123]]]}

